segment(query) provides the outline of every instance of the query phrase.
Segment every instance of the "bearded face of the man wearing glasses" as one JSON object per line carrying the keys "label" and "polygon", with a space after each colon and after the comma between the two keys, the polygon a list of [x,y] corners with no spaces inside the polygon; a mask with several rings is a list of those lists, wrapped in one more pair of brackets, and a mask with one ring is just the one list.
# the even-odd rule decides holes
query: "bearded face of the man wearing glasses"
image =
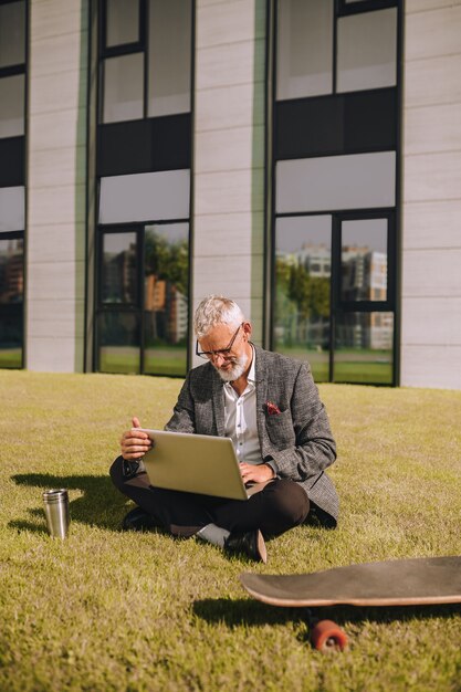
{"label": "bearded face of the man wearing glasses", "polygon": [[251,357],[250,334],[249,322],[239,327],[218,324],[200,339],[199,349],[208,354],[224,381],[239,379],[245,371]]}

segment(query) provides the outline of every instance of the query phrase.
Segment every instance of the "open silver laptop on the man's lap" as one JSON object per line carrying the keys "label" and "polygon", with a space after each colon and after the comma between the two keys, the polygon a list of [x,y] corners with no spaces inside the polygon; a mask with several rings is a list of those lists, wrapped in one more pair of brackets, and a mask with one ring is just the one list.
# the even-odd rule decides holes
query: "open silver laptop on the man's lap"
{"label": "open silver laptop on the man's lap", "polygon": [[142,430],[154,441],[143,460],[151,485],[230,500],[248,500],[260,490],[245,489],[230,438]]}

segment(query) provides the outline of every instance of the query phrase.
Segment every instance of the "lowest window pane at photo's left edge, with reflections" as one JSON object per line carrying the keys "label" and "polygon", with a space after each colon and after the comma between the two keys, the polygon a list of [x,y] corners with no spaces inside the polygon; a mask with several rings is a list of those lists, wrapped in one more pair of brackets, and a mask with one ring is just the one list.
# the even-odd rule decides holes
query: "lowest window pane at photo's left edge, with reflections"
{"label": "lowest window pane at photo's left edge, with reflections", "polygon": [[0,367],[22,367],[22,239],[0,240]]}

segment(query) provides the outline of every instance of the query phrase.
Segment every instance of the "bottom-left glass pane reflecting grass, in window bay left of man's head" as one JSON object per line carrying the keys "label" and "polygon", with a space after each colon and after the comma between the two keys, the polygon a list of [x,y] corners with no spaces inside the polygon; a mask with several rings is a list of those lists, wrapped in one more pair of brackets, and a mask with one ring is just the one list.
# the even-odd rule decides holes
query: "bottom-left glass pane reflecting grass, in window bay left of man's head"
{"label": "bottom-left glass pane reflecting grass, in window bay left of man's head", "polygon": [[98,369],[102,373],[139,373],[139,316],[107,312],[98,318]]}

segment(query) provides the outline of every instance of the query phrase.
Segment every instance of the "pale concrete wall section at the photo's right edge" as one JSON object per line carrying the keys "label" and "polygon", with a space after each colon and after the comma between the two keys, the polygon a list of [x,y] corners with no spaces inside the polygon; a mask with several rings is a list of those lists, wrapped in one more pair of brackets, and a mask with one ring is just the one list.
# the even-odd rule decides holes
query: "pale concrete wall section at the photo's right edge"
{"label": "pale concrete wall section at the photo's right edge", "polygon": [[401,384],[461,389],[461,0],[407,0]]}

